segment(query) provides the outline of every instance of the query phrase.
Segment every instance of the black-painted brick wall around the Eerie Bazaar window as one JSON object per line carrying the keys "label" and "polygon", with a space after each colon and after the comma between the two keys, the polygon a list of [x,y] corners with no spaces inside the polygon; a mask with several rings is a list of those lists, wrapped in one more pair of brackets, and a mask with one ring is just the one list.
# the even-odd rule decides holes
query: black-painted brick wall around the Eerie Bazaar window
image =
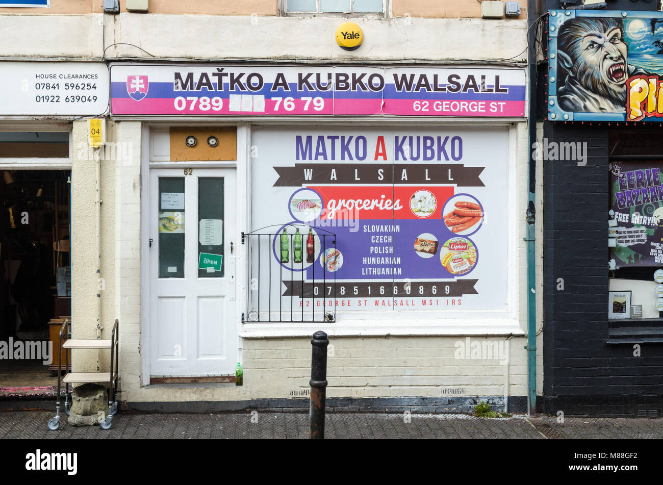
{"label": "black-painted brick wall around the Eerie Bazaar window", "polygon": [[[663,408],[663,345],[607,345],[608,129],[544,123],[548,142],[587,142],[587,164],[544,161],[546,413],[633,416]],[[662,132],[663,133],[663,132]],[[663,154],[661,154],[663,158]],[[652,268],[652,274],[653,274]],[[558,278],[564,291],[557,290]]]}

